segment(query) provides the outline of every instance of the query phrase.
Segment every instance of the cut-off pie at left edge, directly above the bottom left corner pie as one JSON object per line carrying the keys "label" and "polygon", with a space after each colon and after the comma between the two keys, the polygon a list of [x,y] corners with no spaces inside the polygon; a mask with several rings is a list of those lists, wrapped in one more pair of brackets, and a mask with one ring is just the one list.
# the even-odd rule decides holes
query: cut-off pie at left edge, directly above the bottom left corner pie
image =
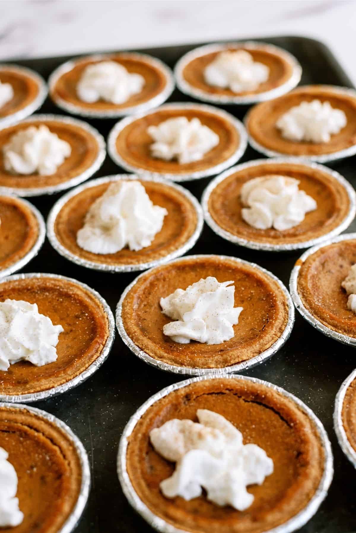
{"label": "cut-off pie at left edge, directly above the bottom left corner pie", "polygon": [[[105,300],[88,286],[55,274],[18,274],[0,282],[0,302],[6,300],[22,301],[21,308],[26,303],[36,304],[40,316],[32,317],[29,324],[39,327],[38,319],[48,317],[56,329],[52,332],[51,326],[51,335],[56,333],[58,341],[39,338],[39,346],[50,350],[51,359],[46,364],[37,359],[33,364],[28,355],[10,364],[7,370],[0,370],[0,398],[4,401],[35,401],[65,392],[85,381],[108,356],[113,343],[113,316]],[[25,314],[23,317],[22,323],[27,324]],[[48,324],[43,325],[39,332],[48,328]],[[14,325],[11,335],[19,340],[20,334]],[[30,346],[35,343],[34,336]],[[54,348],[48,348],[50,343],[55,346],[57,357],[52,357]],[[21,353],[20,348],[17,353]],[[35,350],[35,356],[36,353]],[[47,357],[44,349],[41,354]],[[9,362],[10,358],[16,359],[15,355],[10,354]],[[41,362],[42,366],[36,366]]]}

